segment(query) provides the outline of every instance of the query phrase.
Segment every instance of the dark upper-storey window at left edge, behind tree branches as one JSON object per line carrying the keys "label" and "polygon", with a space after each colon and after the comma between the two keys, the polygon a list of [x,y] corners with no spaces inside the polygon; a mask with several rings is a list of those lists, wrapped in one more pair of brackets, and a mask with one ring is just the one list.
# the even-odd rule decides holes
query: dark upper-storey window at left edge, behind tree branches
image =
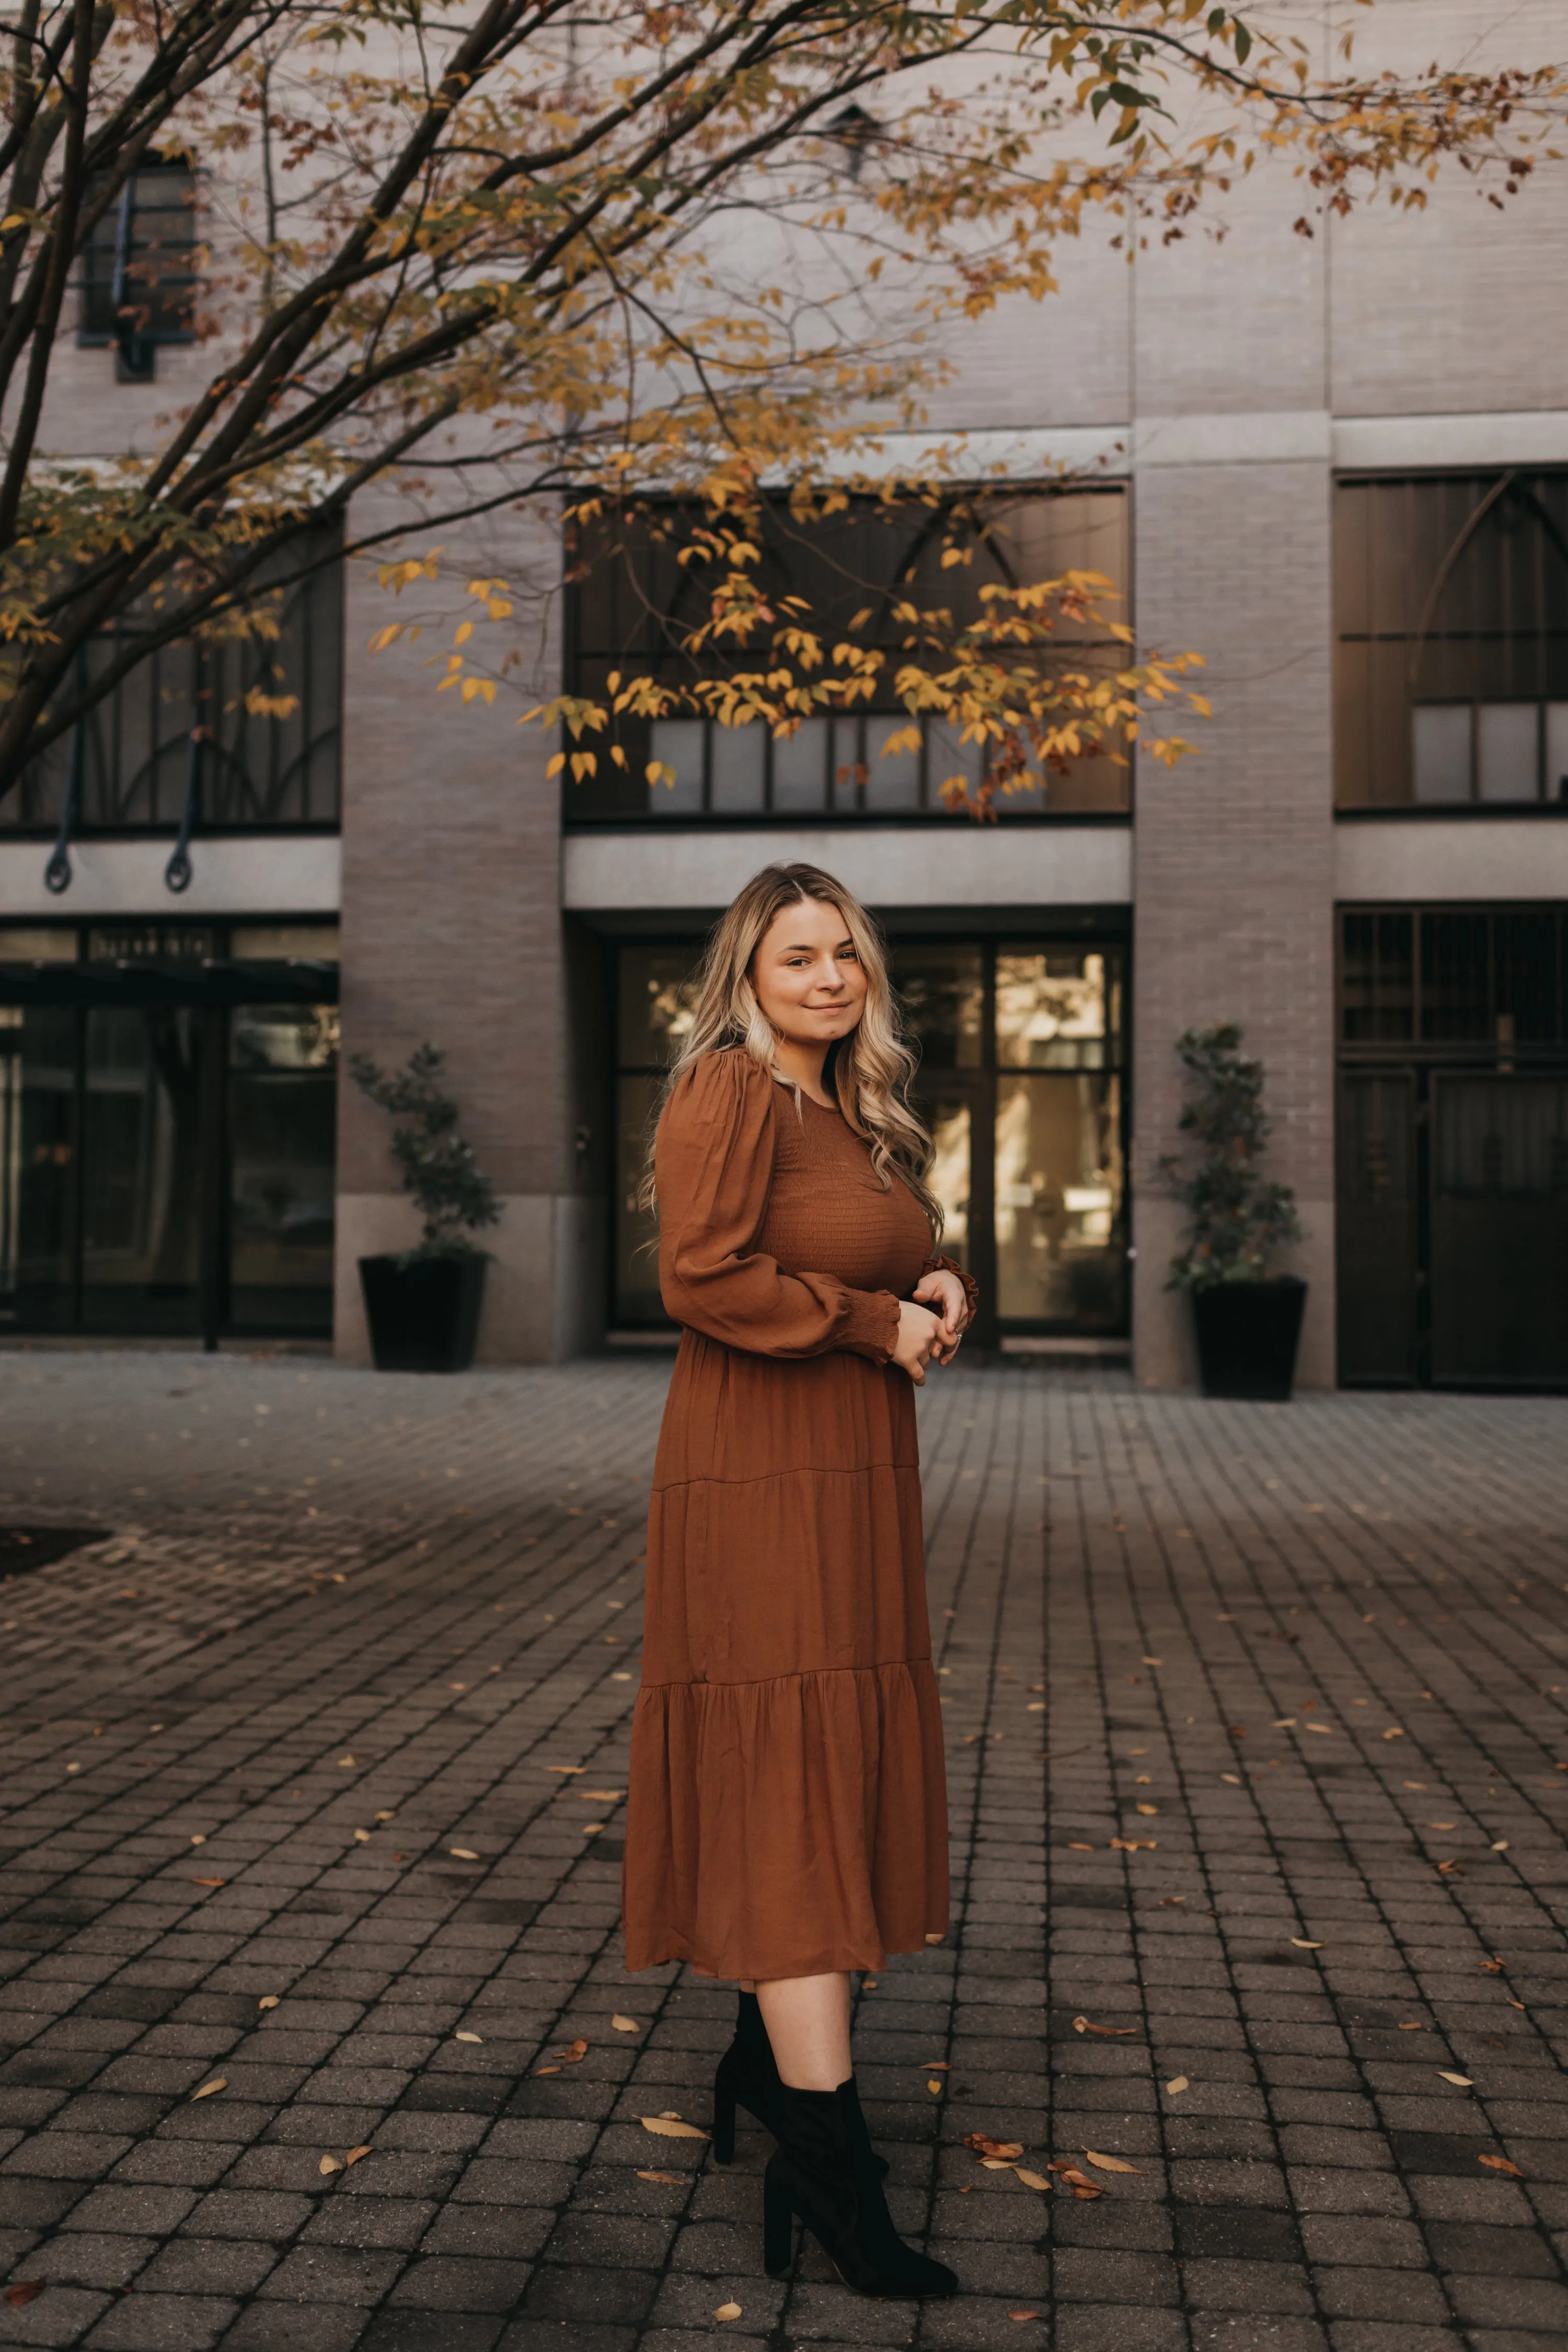
{"label": "dark upper-storey window at left edge, behind tree branches", "polygon": [[[0,833],[54,830],[75,786],[73,833],[197,833],[336,826],[343,715],[339,534],[280,557],[277,635],[176,642],[148,654],[82,724],[0,797]],[[303,576],[301,576],[303,574]],[[118,659],[110,628],[85,675]],[[263,708],[287,703],[287,710]]]}

